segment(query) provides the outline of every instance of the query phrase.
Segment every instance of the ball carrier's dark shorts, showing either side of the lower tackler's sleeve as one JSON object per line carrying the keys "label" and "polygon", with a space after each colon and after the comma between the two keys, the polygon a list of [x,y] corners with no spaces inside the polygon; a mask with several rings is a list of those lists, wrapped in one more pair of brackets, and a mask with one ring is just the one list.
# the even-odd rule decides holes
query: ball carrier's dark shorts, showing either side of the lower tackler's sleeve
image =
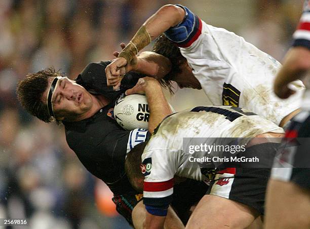
{"label": "ball carrier's dark shorts, showing either side of the lower tackler's sleeve", "polygon": [[[190,216],[190,207],[199,202],[206,194],[208,187],[204,182],[192,179],[186,179],[186,181],[174,186],[171,206],[184,224],[186,224]],[[133,225],[132,210],[142,199],[143,195],[141,193],[131,193],[115,195],[112,201],[116,205],[117,211],[125,217],[130,225]]]}

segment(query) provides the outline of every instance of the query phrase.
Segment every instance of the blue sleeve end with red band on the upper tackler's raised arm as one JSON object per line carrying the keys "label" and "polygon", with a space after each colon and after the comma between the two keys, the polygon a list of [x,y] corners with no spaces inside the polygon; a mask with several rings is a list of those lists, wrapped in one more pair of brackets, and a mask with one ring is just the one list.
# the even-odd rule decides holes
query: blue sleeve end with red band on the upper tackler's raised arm
{"label": "blue sleeve end with red band on the upper tackler's raised arm", "polygon": [[183,21],[168,29],[164,34],[179,47],[189,47],[192,42],[197,40],[202,30],[201,20],[193,14],[187,7],[176,5],[185,11]]}

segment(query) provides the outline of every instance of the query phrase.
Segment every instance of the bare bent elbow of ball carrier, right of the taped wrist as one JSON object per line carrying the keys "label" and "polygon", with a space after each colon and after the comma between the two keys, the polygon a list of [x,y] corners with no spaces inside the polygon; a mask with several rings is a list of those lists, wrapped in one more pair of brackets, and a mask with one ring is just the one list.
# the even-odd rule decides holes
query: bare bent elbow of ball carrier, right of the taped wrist
{"label": "bare bent elbow of ball carrier, right of the taped wrist", "polygon": [[143,52],[138,56],[137,69],[135,71],[161,79],[171,70],[171,62],[168,58],[154,52]]}

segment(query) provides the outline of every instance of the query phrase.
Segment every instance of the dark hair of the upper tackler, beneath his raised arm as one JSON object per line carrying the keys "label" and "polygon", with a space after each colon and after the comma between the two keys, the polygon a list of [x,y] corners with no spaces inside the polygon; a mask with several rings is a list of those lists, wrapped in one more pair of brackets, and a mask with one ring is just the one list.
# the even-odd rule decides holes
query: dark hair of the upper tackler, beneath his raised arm
{"label": "dark hair of the upper tackler, beneath his raised arm", "polygon": [[186,58],[182,56],[179,47],[173,41],[169,40],[164,34],[162,34],[155,41],[153,45],[153,52],[167,57],[171,62],[171,71],[161,79],[161,84],[173,93],[171,89],[173,87],[171,80],[175,79],[176,74],[182,72],[180,65],[186,62]]}

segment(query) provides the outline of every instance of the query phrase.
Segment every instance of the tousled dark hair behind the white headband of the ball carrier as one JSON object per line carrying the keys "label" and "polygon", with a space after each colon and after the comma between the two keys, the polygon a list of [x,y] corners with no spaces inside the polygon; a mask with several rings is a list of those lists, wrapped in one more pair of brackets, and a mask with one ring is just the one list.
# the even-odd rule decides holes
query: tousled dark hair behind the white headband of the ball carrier
{"label": "tousled dark hair behind the white headband of the ball carrier", "polygon": [[17,97],[21,105],[31,115],[45,122],[51,122],[47,106],[42,101],[42,95],[48,86],[50,77],[62,76],[53,67],[46,68],[36,73],[29,73],[17,85]]}

